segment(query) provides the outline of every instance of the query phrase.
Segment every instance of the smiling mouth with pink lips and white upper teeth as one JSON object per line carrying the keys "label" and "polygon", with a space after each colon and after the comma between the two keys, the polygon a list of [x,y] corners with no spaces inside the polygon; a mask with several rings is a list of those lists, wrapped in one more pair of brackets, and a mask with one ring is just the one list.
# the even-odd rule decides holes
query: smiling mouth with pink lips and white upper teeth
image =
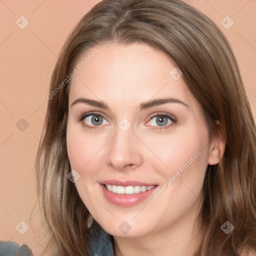
{"label": "smiling mouth with pink lips and white upper teeth", "polygon": [[99,185],[105,199],[118,206],[133,206],[144,201],[158,187],[157,184],[134,180],[105,180]]}

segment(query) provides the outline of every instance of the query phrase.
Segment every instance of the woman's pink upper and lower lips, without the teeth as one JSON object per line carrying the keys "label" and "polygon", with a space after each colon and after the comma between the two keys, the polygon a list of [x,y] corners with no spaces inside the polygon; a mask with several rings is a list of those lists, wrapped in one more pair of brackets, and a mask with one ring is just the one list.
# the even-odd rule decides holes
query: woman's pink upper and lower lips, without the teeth
{"label": "woman's pink upper and lower lips, without the teeth", "polygon": [[[110,185],[120,185],[120,186],[135,186],[135,185],[140,185],[140,186],[150,186],[150,185],[154,185],[155,187],[153,187],[150,190],[146,190],[144,192],[140,192],[140,193],[134,193],[134,194],[117,194],[117,193],[113,193],[111,191],[108,191],[104,184],[110,184]],[[106,198],[106,200],[108,200],[109,202],[118,205],[118,206],[123,206],[123,207],[130,207],[133,205],[136,205],[142,201],[144,201],[146,198],[148,198],[153,191],[158,187],[158,185],[156,184],[150,184],[150,183],[144,183],[144,182],[139,182],[139,181],[135,181],[135,180],[104,180],[101,181],[99,183],[101,189],[102,189],[102,193],[104,195],[104,197]]]}

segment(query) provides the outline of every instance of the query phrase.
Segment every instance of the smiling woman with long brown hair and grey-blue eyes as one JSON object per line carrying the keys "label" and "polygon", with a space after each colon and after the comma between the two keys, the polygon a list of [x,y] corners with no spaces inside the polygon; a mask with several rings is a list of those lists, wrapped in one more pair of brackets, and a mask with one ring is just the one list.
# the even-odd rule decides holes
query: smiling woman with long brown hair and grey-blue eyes
{"label": "smiling woman with long brown hair and grey-blue eyes", "polygon": [[206,16],[179,0],[101,1],[47,98],[36,168],[60,255],[255,255],[255,124]]}

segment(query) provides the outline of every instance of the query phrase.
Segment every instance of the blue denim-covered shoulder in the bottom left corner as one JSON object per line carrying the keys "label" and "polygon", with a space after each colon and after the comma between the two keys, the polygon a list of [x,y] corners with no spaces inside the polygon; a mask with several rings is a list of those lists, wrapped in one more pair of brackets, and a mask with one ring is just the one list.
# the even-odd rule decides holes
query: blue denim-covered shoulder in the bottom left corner
{"label": "blue denim-covered shoulder in the bottom left corner", "polygon": [[0,255],[8,256],[33,256],[26,244],[19,246],[13,241],[0,241]]}

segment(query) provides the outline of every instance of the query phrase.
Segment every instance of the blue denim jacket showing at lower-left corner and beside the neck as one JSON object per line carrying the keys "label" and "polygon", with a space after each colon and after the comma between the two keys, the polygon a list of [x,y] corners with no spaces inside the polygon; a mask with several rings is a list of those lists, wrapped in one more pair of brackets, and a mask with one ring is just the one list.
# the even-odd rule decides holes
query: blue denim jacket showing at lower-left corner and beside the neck
{"label": "blue denim jacket showing at lower-left corner and beside the neck", "polygon": [[[112,235],[106,233],[96,221],[86,229],[86,233],[89,236],[91,256],[114,256]],[[33,254],[25,244],[19,246],[13,241],[0,241],[0,256],[33,256]]]}

